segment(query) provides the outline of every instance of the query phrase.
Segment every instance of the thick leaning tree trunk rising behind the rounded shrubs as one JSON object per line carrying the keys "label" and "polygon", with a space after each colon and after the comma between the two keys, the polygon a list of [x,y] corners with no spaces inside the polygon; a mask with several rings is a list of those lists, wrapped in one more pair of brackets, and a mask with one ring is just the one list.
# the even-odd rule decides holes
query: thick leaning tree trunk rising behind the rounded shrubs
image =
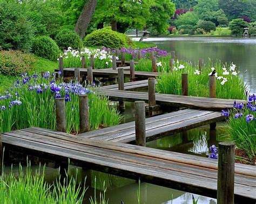
{"label": "thick leaning tree trunk rising behind the rounded shrubs", "polygon": [[75,31],[80,36],[84,37],[87,27],[91,21],[92,15],[95,11],[97,0],[87,0],[84,4],[84,8],[77,20]]}

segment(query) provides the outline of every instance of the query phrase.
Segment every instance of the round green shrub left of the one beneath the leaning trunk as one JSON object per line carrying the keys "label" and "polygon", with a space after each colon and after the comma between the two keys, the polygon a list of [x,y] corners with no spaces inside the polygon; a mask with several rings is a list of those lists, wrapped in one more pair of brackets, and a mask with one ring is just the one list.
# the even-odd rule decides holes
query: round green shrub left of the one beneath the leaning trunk
{"label": "round green shrub left of the one beneath the leaning trunk", "polygon": [[53,39],[40,36],[33,41],[32,52],[39,57],[54,61],[59,57],[60,50]]}

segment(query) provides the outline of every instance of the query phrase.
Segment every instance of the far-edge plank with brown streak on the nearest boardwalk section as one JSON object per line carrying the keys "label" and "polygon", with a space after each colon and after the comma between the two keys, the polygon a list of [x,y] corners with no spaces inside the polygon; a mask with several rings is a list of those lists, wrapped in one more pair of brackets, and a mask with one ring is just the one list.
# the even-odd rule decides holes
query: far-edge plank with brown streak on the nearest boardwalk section
{"label": "far-edge plank with brown streak on the nearest boardwalk section", "polygon": [[[177,161],[179,163],[207,167],[207,168],[212,168],[214,170],[218,169],[217,160],[193,156],[190,154],[183,154],[183,153],[178,153],[178,152],[170,152],[170,151],[152,149],[149,147],[147,147],[145,149],[144,147],[142,148],[140,146],[134,146],[131,144],[113,143],[113,142],[108,142],[108,141],[103,141],[103,140],[91,140],[91,139],[87,139],[87,138],[81,138],[78,136],[74,137],[73,135],[70,135],[70,134],[64,133],[64,132],[58,132],[58,131],[54,131],[54,130],[48,130],[48,129],[42,129],[42,128],[36,128],[36,127],[23,129],[21,131],[36,133],[36,134],[42,135],[42,136],[59,138],[59,139],[65,140],[65,141],[72,141],[72,142],[79,143],[79,144],[96,146],[96,147],[100,147],[100,148],[104,148],[104,149],[116,150],[116,151],[127,152],[127,153],[135,153],[135,154],[140,154],[140,155],[144,155],[147,157],[165,159],[165,160],[170,160],[170,161]],[[185,155],[185,157],[184,157],[184,155]],[[256,177],[255,168],[256,168],[255,166],[235,163],[235,173],[237,173],[237,174],[249,175],[252,177]]]}

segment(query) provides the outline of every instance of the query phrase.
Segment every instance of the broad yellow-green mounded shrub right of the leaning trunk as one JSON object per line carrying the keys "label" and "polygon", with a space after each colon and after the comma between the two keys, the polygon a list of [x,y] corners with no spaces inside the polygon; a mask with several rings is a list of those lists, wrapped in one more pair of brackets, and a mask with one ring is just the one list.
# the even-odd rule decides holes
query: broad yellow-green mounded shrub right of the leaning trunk
{"label": "broad yellow-green mounded shrub right of the leaning trunk", "polygon": [[122,48],[130,47],[132,41],[125,34],[112,31],[105,27],[104,29],[99,29],[93,31],[91,34],[87,35],[84,39],[84,45],[88,47],[92,46],[105,46],[107,48]]}

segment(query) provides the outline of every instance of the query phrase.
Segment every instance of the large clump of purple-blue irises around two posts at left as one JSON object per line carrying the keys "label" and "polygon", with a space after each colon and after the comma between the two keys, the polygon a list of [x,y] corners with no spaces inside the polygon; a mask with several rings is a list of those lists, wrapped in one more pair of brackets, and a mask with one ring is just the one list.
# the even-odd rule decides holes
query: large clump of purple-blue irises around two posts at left
{"label": "large clump of purple-blue irises around two posts at left", "polygon": [[[58,73],[60,74],[60,72]],[[79,132],[79,95],[88,95],[90,129],[112,126],[121,116],[106,96],[93,92],[76,81],[56,79],[56,73],[22,74],[5,94],[0,96],[0,132],[38,126],[56,129],[55,98],[66,101],[66,131]]]}

